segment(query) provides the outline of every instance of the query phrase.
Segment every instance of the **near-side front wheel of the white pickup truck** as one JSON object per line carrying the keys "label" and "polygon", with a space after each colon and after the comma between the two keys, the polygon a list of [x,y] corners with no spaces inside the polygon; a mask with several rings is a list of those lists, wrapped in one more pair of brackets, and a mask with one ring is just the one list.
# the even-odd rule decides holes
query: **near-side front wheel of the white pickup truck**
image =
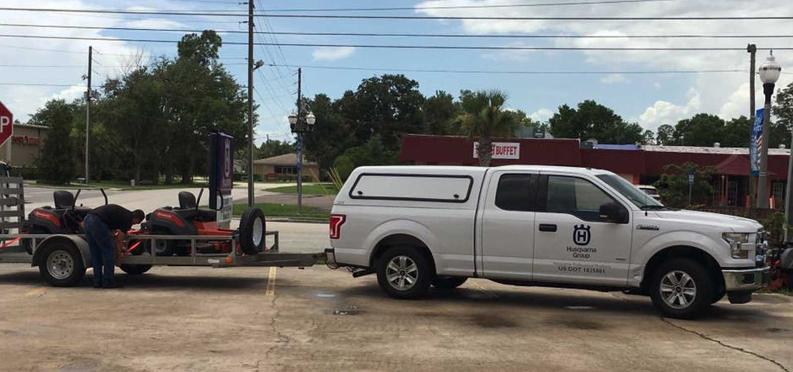
{"label": "near-side front wheel of the white pickup truck", "polygon": [[650,297],[664,316],[691,319],[711,305],[715,294],[708,271],[690,259],[671,259],[655,270]]}

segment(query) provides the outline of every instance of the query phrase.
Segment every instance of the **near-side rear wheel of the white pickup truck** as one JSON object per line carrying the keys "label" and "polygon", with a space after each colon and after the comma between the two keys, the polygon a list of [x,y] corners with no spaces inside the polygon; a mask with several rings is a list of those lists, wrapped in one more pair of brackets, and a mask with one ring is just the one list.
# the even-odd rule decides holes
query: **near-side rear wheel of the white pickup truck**
{"label": "near-side rear wheel of the white pickup truck", "polygon": [[413,247],[393,247],[377,262],[377,283],[394,298],[423,297],[434,276],[427,257]]}

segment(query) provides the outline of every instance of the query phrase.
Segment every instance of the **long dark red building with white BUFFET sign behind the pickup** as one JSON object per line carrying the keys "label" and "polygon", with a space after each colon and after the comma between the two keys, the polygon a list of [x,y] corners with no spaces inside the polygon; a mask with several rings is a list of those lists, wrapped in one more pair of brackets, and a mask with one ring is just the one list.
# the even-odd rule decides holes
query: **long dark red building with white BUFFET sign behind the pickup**
{"label": "long dark red building with white BUFFET sign behind the pickup", "polygon": [[[426,165],[479,165],[476,140],[464,136],[405,135],[400,163]],[[749,194],[748,148],[693,146],[594,145],[580,140],[504,138],[493,140],[492,166],[508,164],[563,165],[612,171],[634,184],[650,184],[667,164],[696,163],[714,166],[716,205],[745,206]],[[783,205],[787,178],[787,149],[768,151],[768,188],[777,207]]]}

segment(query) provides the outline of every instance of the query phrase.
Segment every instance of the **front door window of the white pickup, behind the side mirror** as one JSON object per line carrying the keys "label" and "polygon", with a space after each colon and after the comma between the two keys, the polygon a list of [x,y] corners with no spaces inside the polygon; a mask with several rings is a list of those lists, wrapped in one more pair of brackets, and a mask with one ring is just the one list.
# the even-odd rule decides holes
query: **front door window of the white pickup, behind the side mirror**
{"label": "front door window of the white pickup, behind the side mirror", "polygon": [[[616,202],[583,178],[548,176],[546,212],[568,213],[584,221],[600,221],[600,205]],[[619,205],[619,203],[617,203]]]}

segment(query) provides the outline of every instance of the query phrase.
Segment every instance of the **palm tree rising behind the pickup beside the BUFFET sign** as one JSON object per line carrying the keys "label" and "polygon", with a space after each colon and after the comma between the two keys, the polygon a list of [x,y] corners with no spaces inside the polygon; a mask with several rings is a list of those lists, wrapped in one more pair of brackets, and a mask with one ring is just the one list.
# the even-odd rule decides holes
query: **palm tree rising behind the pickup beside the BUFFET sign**
{"label": "palm tree rising behind the pickup beside the BUFFET sign", "polygon": [[504,110],[507,94],[500,90],[463,92],[460,97],[462,114],[458,117],[462,131],[478,138],[479,165],[490,167],[493,137],[511,136],[518,126],[514,115]]}

